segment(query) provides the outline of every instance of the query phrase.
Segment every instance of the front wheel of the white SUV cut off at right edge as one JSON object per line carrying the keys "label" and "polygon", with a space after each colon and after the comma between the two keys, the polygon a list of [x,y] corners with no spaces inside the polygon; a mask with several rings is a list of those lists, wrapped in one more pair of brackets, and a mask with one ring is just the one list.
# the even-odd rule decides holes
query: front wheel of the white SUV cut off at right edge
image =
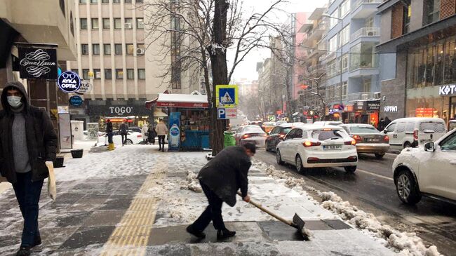
{"label": "front wheel of the white SUV cut off at right edge", "polygon": [[395,177],[394,183],[396,184],[397,195],[403,203],[415,205],[421,200],[415,177],[409,170],[401,170]]}

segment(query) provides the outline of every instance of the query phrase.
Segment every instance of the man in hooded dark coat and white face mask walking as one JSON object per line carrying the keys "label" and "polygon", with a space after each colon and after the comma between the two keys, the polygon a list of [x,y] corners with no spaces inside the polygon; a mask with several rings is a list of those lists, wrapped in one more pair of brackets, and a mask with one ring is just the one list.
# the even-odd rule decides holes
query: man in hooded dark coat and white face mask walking
{"label": "man in hooded dark coat and white face mask walking", "polygon": [[29,105],[20,82],[9,82],[1,93],[0,173],[13,184],[24,217],[18,256],[30,255],[41,244],[38,227],[39,197],[49,175],[46,162],[55,160],[57,135],[48,114]]}

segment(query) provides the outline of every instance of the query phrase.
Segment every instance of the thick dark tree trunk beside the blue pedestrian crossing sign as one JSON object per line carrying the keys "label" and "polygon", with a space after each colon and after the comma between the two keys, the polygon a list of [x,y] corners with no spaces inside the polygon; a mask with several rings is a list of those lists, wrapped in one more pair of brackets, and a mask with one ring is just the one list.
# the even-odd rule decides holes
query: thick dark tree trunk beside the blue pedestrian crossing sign
{"label": "thick dark tree trunk beside the blue pedestrian crossing sign", "polygon": [[212,128],[212,139],[210,144],[213,156],[222,151],[224,147],[223,132],[227,122],[217,120],[217,105],[215,104],[215,86],[225,85],[228,83],[227,68],[227,11],[229,8],[228,0],[215,0],[215,11],[213,19],[213,38],[212,45],[208,46],[210,53],[210,62],[212,64],[213,76],[213,95],[212,108],[210,109],[210,123]]}

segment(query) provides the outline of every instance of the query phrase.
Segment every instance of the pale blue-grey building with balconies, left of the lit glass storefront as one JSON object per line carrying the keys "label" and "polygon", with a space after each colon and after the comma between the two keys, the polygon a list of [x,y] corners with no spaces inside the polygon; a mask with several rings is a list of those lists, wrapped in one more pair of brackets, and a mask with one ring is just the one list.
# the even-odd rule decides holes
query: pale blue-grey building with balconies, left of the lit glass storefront
{"label": "pale blue-grey building with balconies, left of the lit glass storefront", "polygon": [[324,36],[328,53],[326,102],[328,119],[374,123],[378,121],[380,82],[380,0],[330,0],[323,13],[328,22]]}

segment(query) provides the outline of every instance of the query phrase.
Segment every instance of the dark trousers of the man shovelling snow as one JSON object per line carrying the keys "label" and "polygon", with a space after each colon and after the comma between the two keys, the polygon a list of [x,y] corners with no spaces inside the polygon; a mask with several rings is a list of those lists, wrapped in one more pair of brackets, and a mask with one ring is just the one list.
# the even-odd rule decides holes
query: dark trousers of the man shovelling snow
{"label": "dark trousers of the man shovelling snow", "polygon": [[197,231],[204,231],[212,220],[214,228],[217,230],[226,229],[222,217],[222,199],[220,199],[206,184],[199,182],[204,194],[208,198],[209,206],[201,213],[201,216],[192,224]]}

